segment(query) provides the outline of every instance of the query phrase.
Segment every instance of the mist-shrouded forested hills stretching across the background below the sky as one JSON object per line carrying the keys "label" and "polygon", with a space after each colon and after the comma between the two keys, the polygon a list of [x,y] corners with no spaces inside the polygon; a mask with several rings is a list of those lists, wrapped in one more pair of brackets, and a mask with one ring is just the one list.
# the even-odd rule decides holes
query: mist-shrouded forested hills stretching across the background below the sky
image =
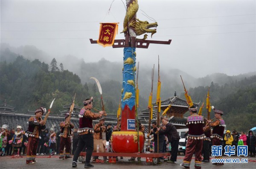
{"label": "mist-shrouded forested hills stretching across the background below the sky", "polygon": [[[15,106],[19,113],[33,111],[39,106],[49,107],[56,98],[52,112],[57,114],[64,110],[62,105],[69,104],[76,93],[75,103],[82,106],[85,98],[94,97],[94,106],[100,108],[100,95],[96,84],[90,77],[96,77],[101,83],[103,99],[108,113],[116,114],[122,88],[122,64],[111,63],[102,59],[98,63],[81,63],[80,74],[70,72],[66,64],[58,63],[55,58],[50,64],[38,59],[29,60],[8,49],[1,51],[0,57],[0,103]],[[89,66],[90,65],[90,66]],[[106,67],[112,67],[105,72]],[[119,70],[120,69],[120,70]],[[155,68],[157,69],[157,68]],[[112,74],[112,72],[115,72]],[[206,77],[192,77],[178,69],[161,71],[161,100],[173,97],[185,99],[180,79],[183,77],[186,89],[195,103],[200,106],[210,89],[211,104],[224,111],[228,129],[247,131],[256,126],[256,73],[228,76],[215,73]],[[155,97],[157,74],[155,71]],[[82,80],[83,79],[83,80]],[[140,70],[140,109],[147,108],[148,95],[151,92],[151,68]],[[205,115],[205,107],[203,109]],[[211,113],[213,117],[213,113]]]}

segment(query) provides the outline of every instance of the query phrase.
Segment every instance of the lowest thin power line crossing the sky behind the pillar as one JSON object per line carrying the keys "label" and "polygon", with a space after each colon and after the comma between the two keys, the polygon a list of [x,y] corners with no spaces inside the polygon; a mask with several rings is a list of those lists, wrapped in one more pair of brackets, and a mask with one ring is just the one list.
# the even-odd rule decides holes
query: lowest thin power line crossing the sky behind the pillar
{"label": "lowest thin power line crossing the sky behind the pillar", "polygon": [[[244,32],[224,32],[224,33],[209,33],[209,34],[235,34],[235,33],[247,33],[256,31],[244,31]],[[159,35],[155,37],[172,37],[172,36],[195,36],[195,35],[208,35],[208,34],[177,34],[177,35]],[[54,40],[54,39],[91,39],[98,37],[74,37],[74,38],[1,38],[2,40]]]}

